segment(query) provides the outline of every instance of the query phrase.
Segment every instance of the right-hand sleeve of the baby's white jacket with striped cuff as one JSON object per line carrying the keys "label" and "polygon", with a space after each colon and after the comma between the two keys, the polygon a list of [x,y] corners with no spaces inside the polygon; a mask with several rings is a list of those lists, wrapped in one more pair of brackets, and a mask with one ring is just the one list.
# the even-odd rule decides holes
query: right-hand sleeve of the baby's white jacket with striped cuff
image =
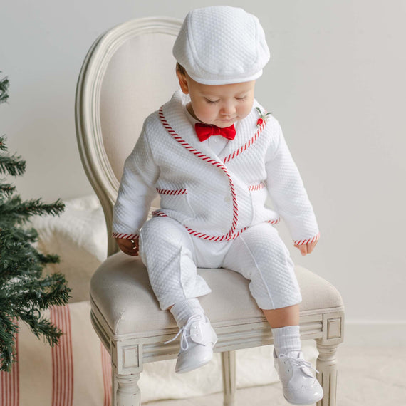
{"label": "right-hand sleeve of the baby's white jacket with striped cuff", "polygon": [[317,241],[318,224],[301,175],[276,120],[273,127],[266,152],[266,187],[274,208],[286,222],[295,245]]}

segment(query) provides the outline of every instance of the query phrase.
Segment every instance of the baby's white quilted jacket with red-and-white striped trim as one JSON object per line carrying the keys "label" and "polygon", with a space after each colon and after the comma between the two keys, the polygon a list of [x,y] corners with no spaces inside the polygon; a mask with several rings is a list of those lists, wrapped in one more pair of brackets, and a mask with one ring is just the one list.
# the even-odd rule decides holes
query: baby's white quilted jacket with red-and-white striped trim
{"label": "baby's white quilted jacket with red-and-white striped trim", "polygon": [[[234,239],[259,222],[283,218],[295,244],[318,239],[313,207],[293,162],[281,126],[272,116],[257,127],[251,113],[236,124],[236,137],[217,156],[199,142],[184,113],[189,96],[180,90],[145,120],[125,160],[113,209],[113,236],[137,238],[152,199],[155,215],[168,216],[204,239]],[[265,207],[267,195],[274,210]]]}

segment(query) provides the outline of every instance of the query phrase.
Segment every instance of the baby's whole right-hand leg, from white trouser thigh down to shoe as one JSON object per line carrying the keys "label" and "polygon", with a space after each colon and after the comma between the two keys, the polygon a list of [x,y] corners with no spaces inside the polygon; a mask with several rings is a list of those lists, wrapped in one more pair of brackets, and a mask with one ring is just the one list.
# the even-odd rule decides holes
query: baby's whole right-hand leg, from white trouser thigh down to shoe
{"label": "baby's whole right-hand leg, from white trouser thigh down to shoe", "polygon": [[231,244],[223,266],[251,280],[251,294],[272,327],[274,365],[286,400],[295,405],[321,400],[323,389],[301,352],[300,288],[288,249],[276,229],[263,223],[244,231]]}

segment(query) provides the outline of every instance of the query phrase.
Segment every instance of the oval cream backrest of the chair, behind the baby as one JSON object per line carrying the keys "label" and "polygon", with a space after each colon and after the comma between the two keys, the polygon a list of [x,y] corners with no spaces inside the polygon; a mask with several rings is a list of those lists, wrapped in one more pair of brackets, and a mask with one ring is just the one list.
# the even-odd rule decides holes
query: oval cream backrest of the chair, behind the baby
{"label": "oval cream backrest of the chair, behind the baby", "polygon": [[86,175],[105,214],[108,255],[117,251],[111,223],[125,158],[147,115],[179,87],[172,46],[181,24],[146,18],[115,26],[96,39],[80,71],[76,134]]}

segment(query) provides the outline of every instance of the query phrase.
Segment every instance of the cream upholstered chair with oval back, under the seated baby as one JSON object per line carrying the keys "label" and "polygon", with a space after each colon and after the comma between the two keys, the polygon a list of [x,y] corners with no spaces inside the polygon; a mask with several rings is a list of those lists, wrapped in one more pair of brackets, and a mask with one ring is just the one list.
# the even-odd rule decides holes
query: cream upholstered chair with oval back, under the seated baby
{"label": "cream upholstered chair with oval back, under the seated baby", "polygon": [[[125,157],[143,120],[177,88],[172,44],[180,25],[177,19],[149,18],[110,29],[91,46],[78,79],[78,145],[109,234],[108,259],[95,271],[90,296],[93,326],[111,356],[114,406],[140,405],[137,380],[142,365],[176,358],[179,349],[178,341],[164,345],[177,327],[170,313],[160,310],[145,266],[139,258],[118,252],[110,231]],[[222,353],[224,405],[236,405],[234,350],[271,344],[271,328],[240,274],[227,269],[199,273],[212,288],[201,303],[219,338],[214,350]],[[315,339],[319,351],[316,368],[325,396],[318,406],[332,406],[335,354],[343,341],[343,301],[320,276],[299,266],[296,274],[303,296],[301,338]]]}

